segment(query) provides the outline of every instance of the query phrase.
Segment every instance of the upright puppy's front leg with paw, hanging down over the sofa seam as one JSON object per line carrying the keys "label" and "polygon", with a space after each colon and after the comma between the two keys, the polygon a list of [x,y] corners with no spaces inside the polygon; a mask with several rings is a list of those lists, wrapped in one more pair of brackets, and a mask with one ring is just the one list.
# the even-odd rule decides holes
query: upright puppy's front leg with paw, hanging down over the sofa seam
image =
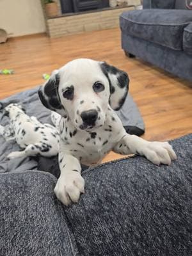
{"label": "upright puppy's front leg with paw, hanging down over the sofa seam", "polygon": [[81,177],[81,164],[79,160],[59,153],[60,177],[54,188],[57,198],[65,205],[77,202],[81,193],[84,193],[84,179]]}

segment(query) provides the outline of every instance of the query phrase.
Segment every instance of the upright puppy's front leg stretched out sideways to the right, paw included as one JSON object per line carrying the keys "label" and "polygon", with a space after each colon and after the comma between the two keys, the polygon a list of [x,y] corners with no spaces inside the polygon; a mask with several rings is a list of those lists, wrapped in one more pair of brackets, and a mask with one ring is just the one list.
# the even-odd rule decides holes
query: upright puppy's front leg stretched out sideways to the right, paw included
{"label": "upright puppy's front leg stretched out sideways to the right, paw included", "polygon": [[140,154],[154,164],[168,164],[177,156],[168,142],[147,141],[136,135],[126,134],[113,148],[120,154]]}

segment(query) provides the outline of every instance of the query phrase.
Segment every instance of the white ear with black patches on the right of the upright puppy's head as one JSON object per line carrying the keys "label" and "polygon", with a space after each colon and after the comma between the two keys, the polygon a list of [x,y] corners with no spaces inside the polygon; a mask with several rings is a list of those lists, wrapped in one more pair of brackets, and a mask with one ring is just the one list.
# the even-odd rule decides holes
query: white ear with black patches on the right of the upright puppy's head
{"label": "white ear with black patches on the right of the upright puppy's head", "polygon": [[126,72],[109,65],[106,62],[100,62],[102,72],[106,75],[110,86],[109,104],[114,110],[122,108],[129,90],[129,77]]}

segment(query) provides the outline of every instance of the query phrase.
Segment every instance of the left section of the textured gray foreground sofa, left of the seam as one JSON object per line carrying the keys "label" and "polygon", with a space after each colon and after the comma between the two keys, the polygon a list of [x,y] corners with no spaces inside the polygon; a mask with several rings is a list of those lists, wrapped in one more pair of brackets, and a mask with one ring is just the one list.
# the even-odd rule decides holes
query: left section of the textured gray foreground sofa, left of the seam
{"label": "left section of the textured gray foreground sofa, left of the seam", "polygon": [[0,174],[0,255],[76,255],[55,183],[45,172]]}

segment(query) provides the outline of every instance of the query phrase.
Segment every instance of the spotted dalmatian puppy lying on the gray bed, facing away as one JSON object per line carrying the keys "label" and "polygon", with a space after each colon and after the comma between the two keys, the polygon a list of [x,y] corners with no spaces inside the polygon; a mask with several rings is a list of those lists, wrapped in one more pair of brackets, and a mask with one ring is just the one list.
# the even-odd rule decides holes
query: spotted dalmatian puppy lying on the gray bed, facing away
{"label": "spotted dalmatian puppy lying on the gray bed, facing away", "polygon": [[16,140],[21,148],[25,148],[8,154],[8,159],[38,154],[51,157],[58,154],[60,135],[55,127],[40,123],[35,116],[26,115],[19,104],[6,106],[4,115],[10,117],[10,125],[0,125],[0,134],[5,140]]}

